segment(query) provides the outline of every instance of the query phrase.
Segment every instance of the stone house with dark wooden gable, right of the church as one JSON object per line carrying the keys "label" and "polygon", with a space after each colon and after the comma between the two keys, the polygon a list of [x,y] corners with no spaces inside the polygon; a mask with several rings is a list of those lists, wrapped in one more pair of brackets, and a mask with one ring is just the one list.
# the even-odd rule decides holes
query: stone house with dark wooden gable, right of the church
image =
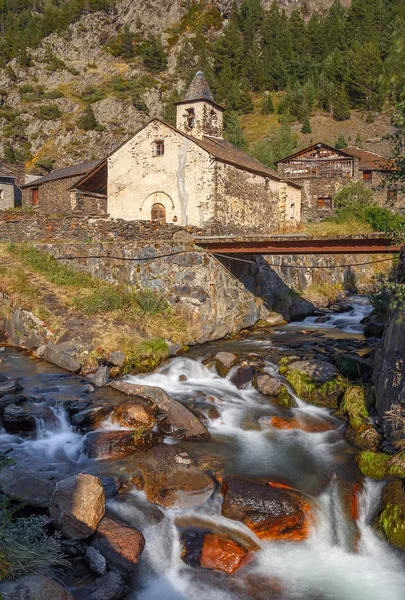
{"label": "stone house with dark wooden gable, right of the church", "polygon": [[404,211],[404,197],[393,186],[383,189],[392,170],[383,156],[350,146],[337,149],[318,143],[277,162],[281,177],[302,185],[302,219],[319,221],[333,212],[333,196],[351,181],[371,187],[381,206]]}

